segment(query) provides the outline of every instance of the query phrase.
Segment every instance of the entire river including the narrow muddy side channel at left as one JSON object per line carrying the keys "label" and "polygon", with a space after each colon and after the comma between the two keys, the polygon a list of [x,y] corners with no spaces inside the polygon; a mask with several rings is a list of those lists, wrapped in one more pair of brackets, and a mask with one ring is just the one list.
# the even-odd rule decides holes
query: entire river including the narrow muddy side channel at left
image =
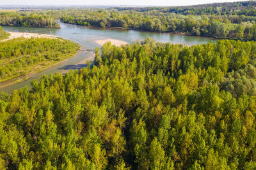
{"label": "entire river including the narrow muddy side channel at left", "polygon": [[[143,40],[147,37],[153,38],[156,41],[160,42],[171,42],[171,43],[182,43],[186,45],[197,45],[202,43],[208,43],[210,41],[216,41],[212,38],[204,38],[198,36],[184,36],[184,35],[176,35],[169,33],[157,33],[157,32],[143,32],[143,31],[132,31],[132,30],[120,30],[120,29],[97,29],[97,28],[88,28],[86,26],[81,25],[72,25],[72,24],[64,24],[60,23],[61,29],[51,29],[51,28],[31,28],[31,27],[3,27],[4,31],[12,31],[12,32],[31,32],[31,33],[39,33],[39,34],[51,34],[55,36],[60,36],[61,38],[70,39],[79,43],[83,46],[83,49],[94,49],[96,46],[99,46],[95,43],[95,40],[99,39],[118,39],[122,41],[127,41],[128,43],[132,43],[136,40]],[[86,66],[85,60],[93,60],[93,52],[81,51],[78,52],[76,56],[71,59],[65,60],[60,64],[50,67],[49,69],[45,69],[40,73],[33,74],[29,76],[28,80],[22,81],[20,83],[16,83],[10,85],[8,87],[4,87],[0,89],[2,92],[12,93],[15,89],[20,89],[28,85],[30,86],[30,82],[34,79],[38,80],[40,76],[43,74],[54,74],[56,72],[67,73],[70,69],[80,69],[81,67]]]}

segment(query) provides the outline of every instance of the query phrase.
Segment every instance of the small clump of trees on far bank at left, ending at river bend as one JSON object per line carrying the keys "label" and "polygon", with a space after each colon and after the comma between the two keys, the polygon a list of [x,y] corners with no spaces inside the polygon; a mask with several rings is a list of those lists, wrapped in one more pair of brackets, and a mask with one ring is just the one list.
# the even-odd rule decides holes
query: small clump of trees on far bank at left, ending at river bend
{"label": "small clump of trees on far bank at left, ending at river bend", "polygon": [[51,18],[49,15],[39,15],[36,13],[0,13],[0,25],[60,28],[60,25],[54,18]]}

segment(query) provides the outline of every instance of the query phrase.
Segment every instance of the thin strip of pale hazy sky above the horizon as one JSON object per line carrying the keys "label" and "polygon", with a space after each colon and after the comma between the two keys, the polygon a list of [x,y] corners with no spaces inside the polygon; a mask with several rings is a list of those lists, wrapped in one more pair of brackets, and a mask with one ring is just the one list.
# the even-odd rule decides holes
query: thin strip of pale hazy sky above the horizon
{"label": "thin strip of pale hazy sky above the horizon", "polygon": [[[237,0],[239,1],[239,0]],[[0,0],[1,5],[143,5],[143,6],[182,6],[191,4],[234,2],[234,0]]]}

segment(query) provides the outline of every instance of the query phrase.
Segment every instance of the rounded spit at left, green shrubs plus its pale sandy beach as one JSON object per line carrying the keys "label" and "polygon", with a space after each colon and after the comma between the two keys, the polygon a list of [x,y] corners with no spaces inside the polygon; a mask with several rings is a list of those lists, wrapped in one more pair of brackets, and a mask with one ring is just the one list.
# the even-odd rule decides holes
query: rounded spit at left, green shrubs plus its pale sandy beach
{"label": "rounded spit at left, green shrubs plus its pale sandy beach", "polygon": [[[13,51],[12,48],[15,48],[15,46],[18,48],[19,46],[28,45],[28,48],[31,48],[31,50],[27,50],[27,48],[23,49],[26,54],[21,54],[20,51],[15,51],[18,55],[2,53],[3,56],[8,57],[0,59],[0,70],[2,71],[0,74],[2,78],[2,80],[0,80],[0,89],[27,80],[33,74],[42,72],[49,67],[56,66],[61,62],[74,57],[77,52],[80,52],[81,50],[81,46],[79,44],[70,40],[59,39],[57,36],[26,32],[10,33],[12,34],[11,37],[0,42],[1,45],[3,45],[1,46],[3,49]],[[25,37],[26,39],[22,39],[20,37]],[[46,39],[28,39],[31,37]],[[17,39],[14,40],[13,38]],[[47,47],[47,44],[54,44],[54,47],[52,46],[52,48],[49,48],[49,46]],[[36,51],[33,52],[35,48],[38,48],[38,50],[48,50],[42,50],[42,52],[37,53]],[[32,53],[29,53],[31,51]],[[25,62],[28,63],[26,64]],[[15,69],[16,66],[17,69]]]}

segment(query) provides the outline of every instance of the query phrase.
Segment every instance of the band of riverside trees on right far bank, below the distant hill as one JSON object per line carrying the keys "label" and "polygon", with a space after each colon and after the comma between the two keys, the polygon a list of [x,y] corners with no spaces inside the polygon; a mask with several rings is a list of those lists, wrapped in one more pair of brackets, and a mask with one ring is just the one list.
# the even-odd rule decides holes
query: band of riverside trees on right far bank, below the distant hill
{"label": "band of riverside trees on right far bank, below the distant hill", "polygon": [[246,15],[181,15],[159,10],[138,12],[115,10],[71,10],[61,22],[97,27],[122,27],[141,31],[185,32],[211,36],[254,40],[256,16]]}

